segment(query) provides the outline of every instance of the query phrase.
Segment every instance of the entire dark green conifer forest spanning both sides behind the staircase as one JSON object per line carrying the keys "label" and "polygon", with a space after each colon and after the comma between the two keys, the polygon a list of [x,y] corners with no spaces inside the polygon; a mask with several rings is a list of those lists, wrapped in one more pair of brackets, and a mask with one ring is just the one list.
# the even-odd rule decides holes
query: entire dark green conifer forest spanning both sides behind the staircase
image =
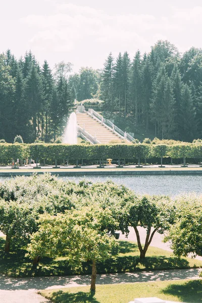
{"label": "entire dark green conifer forest spanning both sides behind the staircase", "polygon": [[10,49],[0,55],[0,139],[56,141],[75,99],[103,100],[101,111],[109,118],[130,119],[160,139],[201,137],[202,49],[181,54],[159,40],[149,53],[110,53],[103,69],[73,73],[72,66],[61,62],[52,70],[31,52],[18,59]]}

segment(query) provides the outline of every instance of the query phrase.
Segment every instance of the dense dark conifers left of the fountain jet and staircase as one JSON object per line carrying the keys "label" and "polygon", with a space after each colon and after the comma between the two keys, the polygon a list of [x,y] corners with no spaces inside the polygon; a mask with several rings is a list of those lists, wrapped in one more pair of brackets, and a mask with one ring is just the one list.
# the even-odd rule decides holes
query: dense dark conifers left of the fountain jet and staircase
{"label": "dense dark conifers left of the fountain jet and staircase", "polygon": [[0,137],[12,142],[20,134],[25,142],[50,141],[63,133],[72,107],[66,78],[71,69],[63,62],[55,75],[31,52],[16,60],[11,51],[0,55]]}

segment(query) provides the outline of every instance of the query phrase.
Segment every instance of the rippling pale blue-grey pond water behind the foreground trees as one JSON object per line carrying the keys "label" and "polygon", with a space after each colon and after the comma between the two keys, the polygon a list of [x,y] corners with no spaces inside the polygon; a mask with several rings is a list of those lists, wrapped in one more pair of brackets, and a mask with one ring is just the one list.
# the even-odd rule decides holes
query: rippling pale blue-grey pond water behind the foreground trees
{"label": "rippling pale blue-grey pond water behind the foreground trees", "polygon": [[[158,175],[158,176],[74,176],[59,177],[64,181],[79,182],[83,179],[91,182],[112,180],[123,184],[139,194],[165,194],[176,196],[181,193],[195,192],[202,194],[202,176],[200,175]],[[0,182],[10,177],[0,177]]]}

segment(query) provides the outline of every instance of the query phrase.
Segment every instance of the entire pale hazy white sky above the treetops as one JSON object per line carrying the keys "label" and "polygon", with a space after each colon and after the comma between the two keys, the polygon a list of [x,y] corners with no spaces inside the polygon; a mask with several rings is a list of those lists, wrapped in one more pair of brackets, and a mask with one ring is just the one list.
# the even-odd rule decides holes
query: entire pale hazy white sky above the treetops
{"label": "entire pale hazy white sky above the treetops", "polygon": [[31,49],[40,64],[61,61],[103,68],[137,49],[143,54],[157,40],[169,40],[181,53],[202,47],[201,0],[0,0],[0,53],[16,58]]}

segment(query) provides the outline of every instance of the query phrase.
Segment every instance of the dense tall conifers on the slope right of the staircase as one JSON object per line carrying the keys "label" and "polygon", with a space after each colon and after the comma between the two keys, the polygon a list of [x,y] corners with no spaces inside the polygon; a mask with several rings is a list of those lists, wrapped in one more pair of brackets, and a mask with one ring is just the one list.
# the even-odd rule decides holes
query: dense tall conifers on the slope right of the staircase
{"label": "dense tall conifers on the slope right of the staircase", "polygon": [[159,138],[191,141],[200,137],[202,49],[181,55],[168,41],[158,41],[141,56],[110,54],[104,64],[101,98],[111,114],[130,116],[136,126],[155,129]]}

